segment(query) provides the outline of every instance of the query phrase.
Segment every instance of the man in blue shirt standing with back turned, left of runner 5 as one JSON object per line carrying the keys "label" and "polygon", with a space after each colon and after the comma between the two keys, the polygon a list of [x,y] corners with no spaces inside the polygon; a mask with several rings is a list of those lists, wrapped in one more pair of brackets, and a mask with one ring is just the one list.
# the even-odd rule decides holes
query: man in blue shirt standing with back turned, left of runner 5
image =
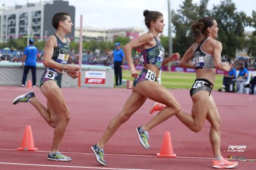
{"label": "man in blue shirt standing with back turned, left of runner 5", "polygon": [[29,45],[25,47],[23,52],[23,60],[22,60],[22,67],[25,66],[23,70],[22,76],[22,87],[25,87],[25,83],[27,81],[28,71],[31,69],[32,71],[32,84],[33,87],[36,87],[36,55],[37,55],[37,48],[33,45],[34,40],[32,38],[29,39]]}

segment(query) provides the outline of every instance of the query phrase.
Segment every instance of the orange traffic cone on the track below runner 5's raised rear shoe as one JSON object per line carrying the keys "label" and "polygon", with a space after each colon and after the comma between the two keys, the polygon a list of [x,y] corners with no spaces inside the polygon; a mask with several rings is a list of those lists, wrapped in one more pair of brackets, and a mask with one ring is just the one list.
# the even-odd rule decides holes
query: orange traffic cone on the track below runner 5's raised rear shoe
{"label": "orange traffic cone on the track below runner 5's raised rear shoe", "polygon": [[38,148],[35,148],[32,130],[30,126],[26,126],[21,147],[17,148],[17,150],[38,150]]}

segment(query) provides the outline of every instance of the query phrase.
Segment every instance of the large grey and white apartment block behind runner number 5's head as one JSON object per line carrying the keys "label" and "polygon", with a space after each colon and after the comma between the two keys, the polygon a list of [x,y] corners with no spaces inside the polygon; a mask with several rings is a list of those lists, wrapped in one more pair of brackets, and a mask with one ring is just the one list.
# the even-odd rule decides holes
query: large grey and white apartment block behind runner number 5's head
{"label": "large grey and white apartment block behind runner number 5's head", "polygon": [[[6,42],[11,37],[23,36],[34,36],[40,41],[56,31],[51,20],[54,14],[63,11],[70,14],[75,25],[75,7],[69,6],[69,1],[40,1],[2,7],[0,9],[0,42]],[[74,35],[75,31],[72,30],[69,37]]]}

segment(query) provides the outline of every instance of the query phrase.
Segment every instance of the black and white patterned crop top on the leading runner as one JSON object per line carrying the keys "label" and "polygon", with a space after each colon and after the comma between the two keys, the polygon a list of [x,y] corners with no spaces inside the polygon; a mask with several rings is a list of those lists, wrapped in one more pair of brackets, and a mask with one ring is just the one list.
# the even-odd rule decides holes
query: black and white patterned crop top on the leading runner
{"label": "black and white patterned crop top on the leading runner", "polygon": [[207,54],[206,52],[202,51],[202,48],[201,48],[203,43],[209,38],[210,37],[203,39],[203,41],[200,43],[200,46],[199,47],[197,46],[197,48],[195,49],[195,51],[193,53],[195,69],[215,68],[213,55]]}

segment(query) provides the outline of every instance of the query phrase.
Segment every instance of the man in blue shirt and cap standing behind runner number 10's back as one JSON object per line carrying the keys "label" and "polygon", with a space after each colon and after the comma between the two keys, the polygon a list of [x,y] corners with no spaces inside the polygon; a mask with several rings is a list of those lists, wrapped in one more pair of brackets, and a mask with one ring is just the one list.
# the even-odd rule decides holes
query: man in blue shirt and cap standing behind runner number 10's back
{"label": "man in blue shirt and cap standing behind runner number 10's back", "polygon": [[120,47],[120,43],[114,44],[116,49],[113,51],[114,56],[114,76],[116,78],[116,86],[122,86],[122,65],[124,64],[124,51]]}

